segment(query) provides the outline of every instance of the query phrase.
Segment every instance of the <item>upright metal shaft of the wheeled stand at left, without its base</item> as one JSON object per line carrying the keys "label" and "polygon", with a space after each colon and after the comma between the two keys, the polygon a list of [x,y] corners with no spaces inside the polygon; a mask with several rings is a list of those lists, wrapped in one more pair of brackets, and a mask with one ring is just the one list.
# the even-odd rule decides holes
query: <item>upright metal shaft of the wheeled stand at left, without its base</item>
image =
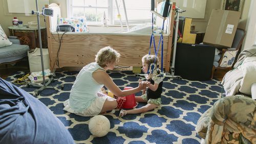
{"label": "upright metal shaft of the wheeled stand at left, without its base", "polygon": [[39,18],[40,13],[38,11],[37,0],[35,2],[36,2],[36,11],[37,11],[36,15],[37,15],[38,39],[39,39],[41,65],[42,65],[42,83],[44,84],[44,86],[46,86],[44,58],[42,57],[42,40],[41,40],[40,18]]}

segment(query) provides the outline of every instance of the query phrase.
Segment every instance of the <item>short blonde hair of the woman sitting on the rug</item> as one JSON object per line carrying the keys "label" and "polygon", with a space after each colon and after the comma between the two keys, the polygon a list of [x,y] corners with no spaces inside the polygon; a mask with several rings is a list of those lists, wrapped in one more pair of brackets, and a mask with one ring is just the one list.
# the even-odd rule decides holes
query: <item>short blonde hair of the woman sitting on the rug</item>
{"label": "short blonde hair of the woman sitting on the rug", "polygon": [[107,63],[118,63],[120,54],[111,46],[106,46],[100,49],[95,56],[95,61],[98,63],[98,65],[105,67]]}

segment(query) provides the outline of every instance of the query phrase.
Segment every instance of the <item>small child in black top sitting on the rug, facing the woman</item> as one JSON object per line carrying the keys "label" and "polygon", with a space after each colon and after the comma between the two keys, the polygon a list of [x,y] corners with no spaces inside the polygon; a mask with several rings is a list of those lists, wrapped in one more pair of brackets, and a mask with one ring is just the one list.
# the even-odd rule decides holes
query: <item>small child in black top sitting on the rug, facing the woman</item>
{"label": "small child in black top sitting on the rug, facing the woman", "polygon": [[[152,67],[152,65],[154,65]],[[143,82],[146,85],[146,90],[143,90],[140,97],[135,97],[136,102],[147,103],[147,105],[131,110],[121,110],[119,116],[126,114],[142,113],[155,109],[161,105],[161,93],[163,78],[158,77],[161,70],[159,67],[159,60],[155,55],[145,55],[142,58],[142,70],[145,73],[145,78],[148,82]]]}

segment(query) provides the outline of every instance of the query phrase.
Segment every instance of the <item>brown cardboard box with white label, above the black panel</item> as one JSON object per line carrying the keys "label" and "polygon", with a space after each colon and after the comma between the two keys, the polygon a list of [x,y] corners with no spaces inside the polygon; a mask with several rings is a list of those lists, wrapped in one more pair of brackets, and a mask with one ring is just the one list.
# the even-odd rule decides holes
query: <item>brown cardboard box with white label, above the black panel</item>
{"label": "brown cardboard box with white label, above the black panel", "polygon": [[237,11],[212,10],[203,43],[220,48],[231,47],[240,15]]}

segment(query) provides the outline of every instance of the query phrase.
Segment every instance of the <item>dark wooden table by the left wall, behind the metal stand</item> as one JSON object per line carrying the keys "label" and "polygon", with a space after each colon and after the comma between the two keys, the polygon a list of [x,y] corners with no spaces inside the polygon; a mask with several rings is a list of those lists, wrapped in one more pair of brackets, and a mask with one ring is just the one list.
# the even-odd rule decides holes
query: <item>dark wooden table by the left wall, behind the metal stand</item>
{"label": "dark wooden table by the left wall, behind the metal stand", "polygon": [[[20,44],[29,45],[29,49],[35,49],[39,46],[38,29],[27,27],[8,27],[10,35],[20,39]],[[42,48],[47,48],[46,27],[41,27]]]}

